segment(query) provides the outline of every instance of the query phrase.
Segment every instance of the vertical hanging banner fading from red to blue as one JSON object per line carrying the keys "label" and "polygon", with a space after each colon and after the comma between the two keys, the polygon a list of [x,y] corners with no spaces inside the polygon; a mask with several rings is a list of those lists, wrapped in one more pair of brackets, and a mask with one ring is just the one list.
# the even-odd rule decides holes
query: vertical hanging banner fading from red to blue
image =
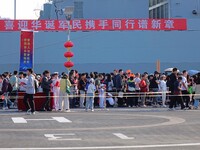
{"label": "vertical hanging banner fading from red to blue", "polygon": [[22,31],[20,42],[20,71],[33,68],[33,32]]}

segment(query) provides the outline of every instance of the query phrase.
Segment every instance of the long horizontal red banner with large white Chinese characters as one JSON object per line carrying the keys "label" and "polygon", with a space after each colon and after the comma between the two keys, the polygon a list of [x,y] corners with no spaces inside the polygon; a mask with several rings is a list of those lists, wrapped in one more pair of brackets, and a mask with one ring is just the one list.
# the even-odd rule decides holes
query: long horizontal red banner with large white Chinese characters
{"label": "long horizontal red banner with large white Chinese characters", "polygon": [[[186,19],[87,19],[71,20],[72,31],[187,30]],[[0,20],[0,31],[65,31],[66,20]]]}

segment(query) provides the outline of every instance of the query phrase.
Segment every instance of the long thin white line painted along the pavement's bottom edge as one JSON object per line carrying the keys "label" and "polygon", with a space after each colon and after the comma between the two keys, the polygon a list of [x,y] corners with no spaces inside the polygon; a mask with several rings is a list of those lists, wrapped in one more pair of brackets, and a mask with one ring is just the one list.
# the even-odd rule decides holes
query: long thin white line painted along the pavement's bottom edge
{"label": "long thin white line painted along the pavement's bottom edge", "polygon": [[89,150],[89,149],[138,149],[200,146],[200,143],[162,144],[162,145],[135,145],[135,146],[102,146],[102,147],[48,147],[48,148],[0,148],[0,150]]}

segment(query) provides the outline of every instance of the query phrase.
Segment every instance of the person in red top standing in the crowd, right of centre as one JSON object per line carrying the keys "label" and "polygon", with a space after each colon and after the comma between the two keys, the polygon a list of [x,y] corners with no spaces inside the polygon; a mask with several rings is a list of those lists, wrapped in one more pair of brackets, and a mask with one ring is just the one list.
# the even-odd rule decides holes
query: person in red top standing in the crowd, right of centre
{"label": "person in red top standing in the crowd, right of centre", "polygon": [[146,74],[143,74],[142,75],[142,79],[140,81],[140,91],[142,92],[141,94],[141,103],[142,103],[142,106],[143,107],[146,107],[145,105],[145,100],[146,100],[146,92],[148,92],[148,87],[147,87],[147,83],[146,83],[146,79],[147,79],[147,76]]}

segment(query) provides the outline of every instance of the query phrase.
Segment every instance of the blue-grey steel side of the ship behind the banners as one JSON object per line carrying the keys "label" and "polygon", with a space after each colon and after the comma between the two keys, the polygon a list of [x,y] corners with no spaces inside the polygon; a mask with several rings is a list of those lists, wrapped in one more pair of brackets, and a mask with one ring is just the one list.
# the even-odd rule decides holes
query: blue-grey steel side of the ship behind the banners
{"label": "blue-grey steel side of the ship behind the banners", "polygon": [[[40,19],[63,19],[59,10],[65,6],[82,5],[77,17],[82,18],[149,18],[148,0],[69,0],[44,5]],[[190,3],[190,4],[189,4]],[[187,5],[189,4],[189,5]],[[200,16],[198,0],[168,1],[172,18],[187,18],[187,31],[98,31],[72,32],[75,69],[112,71],[114,68],[133,71],[155,70],[156,60],[161,69],[200,69]],[[56,13],[57,9],[58,13]],[[83,9],[81,14],[81,9]],[[197,14],[193,14],[193,10]],[[74,16],[75,17],[75,16]],[[20,33],[0,33],[1,71],[12,71],[19,65]],[[35,70],[65,71],[63,43],[65,32],[35,33]]]}

